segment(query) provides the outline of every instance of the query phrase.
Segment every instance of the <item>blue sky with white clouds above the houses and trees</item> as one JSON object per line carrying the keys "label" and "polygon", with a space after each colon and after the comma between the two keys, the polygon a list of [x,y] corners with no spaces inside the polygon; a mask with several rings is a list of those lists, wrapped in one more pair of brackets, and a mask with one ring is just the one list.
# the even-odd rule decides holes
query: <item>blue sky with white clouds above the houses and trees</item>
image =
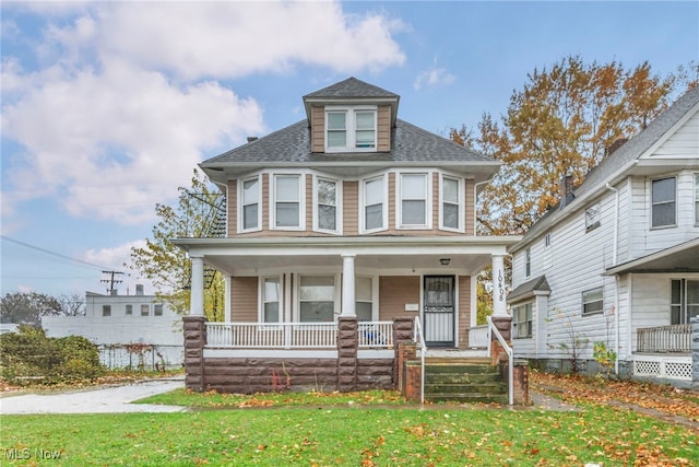
{"label": "blue sky with white clouds above the houses and trees", "polygon": [[[104,292],[197,164],[354,75],[440,135],[535,68],[699,59],[699,2],[12,2],[2,13],[1,292]],[[27,246],[29,245],[29,246]],[[58,255],[55,255],[55,254]],[[72,258],[72,259],[71,259]]]}

